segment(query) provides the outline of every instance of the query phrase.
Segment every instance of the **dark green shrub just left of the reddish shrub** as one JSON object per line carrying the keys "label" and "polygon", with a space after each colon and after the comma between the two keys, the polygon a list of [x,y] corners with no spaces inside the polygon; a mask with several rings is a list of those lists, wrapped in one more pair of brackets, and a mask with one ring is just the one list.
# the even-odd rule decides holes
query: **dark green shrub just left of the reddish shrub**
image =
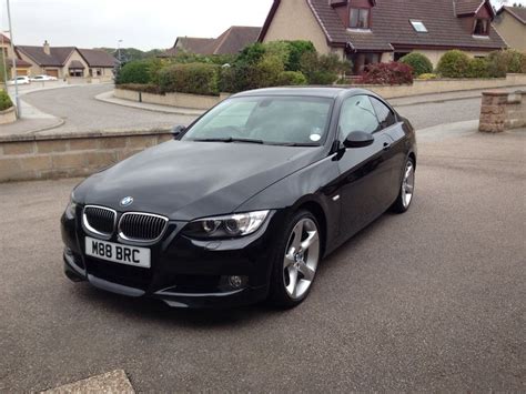
{"label": "dark green shrub just left of the reddish shrub", "polygon": [[310,84],[333,84],[350,68],[348,61],[341,61],[334,53],[306,52],[301,59],[301,71]]}

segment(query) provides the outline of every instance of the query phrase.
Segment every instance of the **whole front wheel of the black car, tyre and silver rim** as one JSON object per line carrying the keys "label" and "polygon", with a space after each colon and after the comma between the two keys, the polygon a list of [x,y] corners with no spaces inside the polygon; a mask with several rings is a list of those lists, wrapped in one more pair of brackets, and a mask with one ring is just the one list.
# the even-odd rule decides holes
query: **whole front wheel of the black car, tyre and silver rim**
{"label": "whole front wheel of the black car, tyre and silver rim", "polygon": [[271,279],[272,303],[293,307],[305,300],[320,257],[320,225],[311,212],[300,211],[290,220],[279,245]]}

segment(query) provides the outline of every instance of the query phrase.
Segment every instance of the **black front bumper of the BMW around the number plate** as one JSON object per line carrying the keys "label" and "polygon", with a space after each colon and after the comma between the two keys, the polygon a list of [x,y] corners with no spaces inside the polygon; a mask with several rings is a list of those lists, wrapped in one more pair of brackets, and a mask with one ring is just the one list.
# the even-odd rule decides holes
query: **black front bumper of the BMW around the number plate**
{"label": "black front bumper of the BMW around the number plate", "polygon": [[[79,218],[79,212],[75,216]],[[87,256],[84,230],[77,219],[64,214],[61,219],[64,273],[74,282],[88,281],[98,289],[134,297],[154,297],[176,307],[256,303],[269,293],[275,255],[272,245],[276,244],[283,218],[283,212],[272,212],[254,234],[226,241],[189,239],[181,234],[186,223],[171,221],[163,238],[148,246],[151,269],[141,269]],[[109,241],[123,243],[117,236]],[[232,276],[240,277],[241,284],[234,285]]]}

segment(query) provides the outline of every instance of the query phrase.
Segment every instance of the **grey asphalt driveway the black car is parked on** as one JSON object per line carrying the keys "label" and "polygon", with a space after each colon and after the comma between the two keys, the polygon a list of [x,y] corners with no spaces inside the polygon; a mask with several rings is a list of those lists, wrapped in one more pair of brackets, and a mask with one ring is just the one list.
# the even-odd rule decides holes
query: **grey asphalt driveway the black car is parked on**
{"label": "grey asphalt driveway the black car is parked on", "polygon": [[328,256],[286,312],[71,283],[59,216],[78,180],[1,184],[0,392],[117,368],[139,392],[524,392],[525,138],[423,139],[412,209]]}

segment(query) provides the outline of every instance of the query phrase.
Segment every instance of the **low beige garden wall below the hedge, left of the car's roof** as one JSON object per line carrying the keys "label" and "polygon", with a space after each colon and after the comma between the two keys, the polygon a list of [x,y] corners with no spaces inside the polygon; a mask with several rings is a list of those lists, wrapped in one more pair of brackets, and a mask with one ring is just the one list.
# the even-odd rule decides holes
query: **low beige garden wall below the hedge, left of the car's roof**
{"label": "low beige garden wall below the hedge, left of the car's roof", "polygon": [[115,89],[113,95],[123,100],[196,110],[208,110],[230,97],[229,93],[221,93],[219,97],[186,93],[154,94],[124,89]]}

